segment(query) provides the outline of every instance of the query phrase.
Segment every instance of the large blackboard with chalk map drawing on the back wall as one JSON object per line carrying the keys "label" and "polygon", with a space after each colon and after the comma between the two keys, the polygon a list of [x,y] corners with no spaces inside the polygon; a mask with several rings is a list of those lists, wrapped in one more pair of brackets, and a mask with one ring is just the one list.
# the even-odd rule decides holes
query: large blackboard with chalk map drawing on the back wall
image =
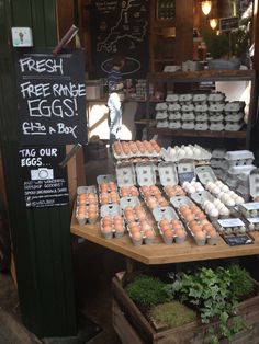
{"label": "large blackboard with chalk map drawing on the back wall", "polygon": [[145,78],[148,70],[147,0],[99,0],[92,4],[92,51],[95,78],[106,78],[112,57],[122,54],[126,64],[122,74]]}

